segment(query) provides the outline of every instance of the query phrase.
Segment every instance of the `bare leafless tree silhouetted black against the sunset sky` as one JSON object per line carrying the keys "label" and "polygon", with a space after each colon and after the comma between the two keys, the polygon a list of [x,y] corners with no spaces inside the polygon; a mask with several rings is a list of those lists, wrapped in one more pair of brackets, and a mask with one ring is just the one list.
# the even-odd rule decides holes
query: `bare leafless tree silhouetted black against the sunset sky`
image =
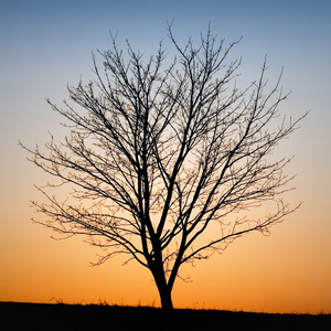
{"label": "bare leafless tree silhouetted black against the sunset sky", "polygon": [[[95,81],[68,87],[73,103],[62,109],[47,99],[70,136],[62,143],[51,136],[45,151],[23,147],[60,179],[39,188],[46,203],[33,204],[46,221],[35,222],[87,236],[105,252],[97,264],[117,254],[137,260],[171,309],[184,263],[207,259],[245,233],[267,233],[298,207],[281,199],[292,179],[284,173],[289,159],[270,154],[305,115],[278,120],[287,95],[281,73],[265,93],[266,61],[258,81],[236,87],[241,60],[225,62],[237,42],[224,47],[209,29],[197,47],[191,39],[180,46],[168,28],[177,57],[167,68],[162,43],[145,64],[140,52],[127,43],[124,55],[111,38],[111,50],[99,52],[104,71],[93,56]],[[47,193],[58,185],[73,189],[64,202]],[[270,213],[249,220],[265,203]]]}

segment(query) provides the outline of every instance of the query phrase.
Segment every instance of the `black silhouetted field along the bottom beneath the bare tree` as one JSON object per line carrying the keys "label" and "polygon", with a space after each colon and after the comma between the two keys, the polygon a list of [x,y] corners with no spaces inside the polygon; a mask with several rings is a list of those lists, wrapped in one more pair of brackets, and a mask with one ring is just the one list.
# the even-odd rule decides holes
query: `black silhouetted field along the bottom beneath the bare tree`
{"label": "black silhouetted field along the bottom beneath the bare tree", "polygon": [[1,330],[329,330],[330,314],[0,302]]}

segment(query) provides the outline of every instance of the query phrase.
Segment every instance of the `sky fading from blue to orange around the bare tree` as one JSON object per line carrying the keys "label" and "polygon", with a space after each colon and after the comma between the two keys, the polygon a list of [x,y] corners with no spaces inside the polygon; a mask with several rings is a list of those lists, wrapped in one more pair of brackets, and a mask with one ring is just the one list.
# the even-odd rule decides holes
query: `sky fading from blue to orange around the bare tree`
{"label": "sky fading from blue to orange around the bare tree", "polygon": [[[99,267],[97,249],[76,237],[53,241],[30,220],[34,184],[49,178],[18,146],[64,135],[45,103],[61,105],[66,86],[93,78],[92,52],[110,49],[109,32],[128,39],[147,58],[167,42],[173,20],[179,42],[200,39],[211,22],[225,43],[238,40],[241,82],[258,77],[268,55],[270,81],[284,67],[291,90],[281,111],[309,116],[279,152],[295,156],[297,174],[287,201],[300,210],[271,228],[248,234],[221,256],[185,266],[173,289],[175,308],[331,313],[331,2],[316,1],[1,1],[0,2],[0,300],[151,305],[159,298],[151,275],[121,257]],[[172,55],[173,50],[169,49]],[[134,277],[135,275],[135,277]]]}

